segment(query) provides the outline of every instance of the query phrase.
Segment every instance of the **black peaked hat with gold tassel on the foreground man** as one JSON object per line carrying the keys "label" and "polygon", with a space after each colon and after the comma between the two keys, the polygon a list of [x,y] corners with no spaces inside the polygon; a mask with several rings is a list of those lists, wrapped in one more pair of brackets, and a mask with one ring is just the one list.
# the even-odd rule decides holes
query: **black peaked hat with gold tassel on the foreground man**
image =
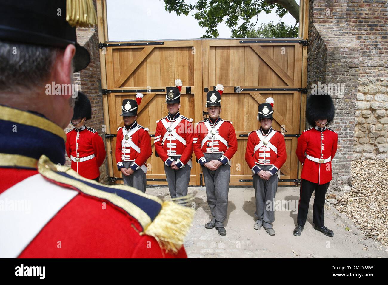
{"label": "black peaked hat with gold tassel on the foreground man", "polygon": [[[90,55],[77,43],[76,28],[69,22],[77,26],[95,24],[94,5],[90,0],[80,0],[87,7],[72,5],[76,2],[68,1],[66,6],[66,0],[0,0],[0,41],[56,48],[73,44],[76,47],[74,72],[84,69],[90,62]],[[66,20],[67,7],[69,21]],[[77,14],[86,16],[74,20]]]}

